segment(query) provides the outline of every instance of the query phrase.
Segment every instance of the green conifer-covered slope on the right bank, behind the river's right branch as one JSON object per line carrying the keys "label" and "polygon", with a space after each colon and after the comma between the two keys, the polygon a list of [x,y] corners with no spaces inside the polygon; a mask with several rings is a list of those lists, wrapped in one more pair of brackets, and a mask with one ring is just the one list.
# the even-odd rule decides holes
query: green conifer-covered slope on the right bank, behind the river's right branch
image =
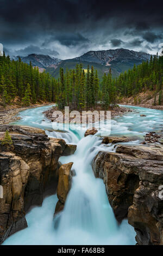
{"label": "green conifer-covered slope on the right bank, behind the river's right branch", "polygon": [[[128,72],[122,73],[116,81],[118,96],[133,97],[135,103],[140,103],[139,93],[148,92],[148,97],[154,97],[153,104],[161,105],[163,86],[163,57],[151,56],[150,61],[134,66]],[[156,96],[159,93],[158,103]],[[158,97],[157,97],[158,98]]]}

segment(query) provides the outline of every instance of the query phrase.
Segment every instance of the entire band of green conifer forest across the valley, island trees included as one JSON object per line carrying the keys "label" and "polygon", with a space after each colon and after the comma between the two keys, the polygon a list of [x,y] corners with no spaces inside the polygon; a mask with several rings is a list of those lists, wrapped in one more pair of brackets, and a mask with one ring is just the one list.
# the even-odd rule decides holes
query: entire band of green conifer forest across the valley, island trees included
{"label": "entire band of green conifer forest across the valley, island trees included", "polygon": [[[0,96],[1,104],[13,104],[20,100],[24,106],[36,102],[56,102],[59,109],[90,109],[100,106],[107,109],[114,106],[122,97],[135,97],[142,91],[159,92],[162,103],[163,57],[151,56],[150,61],[112,78],[111,69],[99,81],[97,70],[93,66],[83,69],[60,69],[60,78],[54,79],[48,73],[39,73],[39,69],[9,56],[0,57]],[[156,102],[154,103],[156,104]]]}

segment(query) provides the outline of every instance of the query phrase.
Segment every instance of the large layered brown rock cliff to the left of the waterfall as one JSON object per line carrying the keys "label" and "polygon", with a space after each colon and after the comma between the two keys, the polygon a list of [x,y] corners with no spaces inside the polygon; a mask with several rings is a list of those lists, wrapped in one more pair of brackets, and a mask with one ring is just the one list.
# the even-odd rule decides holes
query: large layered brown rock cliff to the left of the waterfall
{"label": "large layered brown rock cliff to the left of the waterfall", "polygon": [[12,145],[0,144],[0,243],[27,227],[26,212],[41,205],[45,194],[53,194],[58,184],[58,159],[66,142],[49,139],[41,129],[0,126],[0,138],[9,130]]}

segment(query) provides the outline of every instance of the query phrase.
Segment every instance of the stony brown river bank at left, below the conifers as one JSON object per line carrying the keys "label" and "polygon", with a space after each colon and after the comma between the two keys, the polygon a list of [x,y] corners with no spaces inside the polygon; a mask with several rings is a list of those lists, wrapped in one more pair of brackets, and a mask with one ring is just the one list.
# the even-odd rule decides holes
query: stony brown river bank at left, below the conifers
{"label": "stony brown river bank at left, below the conifers", "polygon": [[45,104],[34,104],[28,107],[20,107],[18,105],[8,105],[5,109],[0,109],[0,124],[9,124],[11,122],[15,122],[21,119],[20,116],[17,116],[20,111],[31,109],[31,108],[38,108],[39,106],[47,106],[52,105],[52,103],[45,103]]}

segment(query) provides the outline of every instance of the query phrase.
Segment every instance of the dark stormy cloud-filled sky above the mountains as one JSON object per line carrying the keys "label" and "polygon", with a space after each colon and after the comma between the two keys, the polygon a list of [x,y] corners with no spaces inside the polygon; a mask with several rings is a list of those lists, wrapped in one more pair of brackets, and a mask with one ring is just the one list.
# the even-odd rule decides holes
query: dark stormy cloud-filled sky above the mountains
{"label": "dark stormy cloud-filled sky above the mountains", "polygon": [[9,55],[61,59],[90,50],[156,53],[163,43],[159,0],[0,0],[0,43]]}

